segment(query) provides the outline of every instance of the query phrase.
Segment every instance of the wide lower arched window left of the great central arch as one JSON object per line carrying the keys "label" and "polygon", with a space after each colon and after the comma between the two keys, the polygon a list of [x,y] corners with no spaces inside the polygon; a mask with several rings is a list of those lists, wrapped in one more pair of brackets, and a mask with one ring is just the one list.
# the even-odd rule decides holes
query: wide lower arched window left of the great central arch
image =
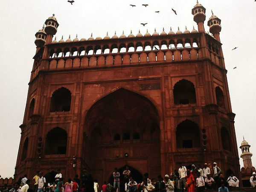
{"label": "wide lower arched window left of the great central arch", "polygon": [[59,127],[48,132],[45,143],[45,154],[66,154],[67,132]]}

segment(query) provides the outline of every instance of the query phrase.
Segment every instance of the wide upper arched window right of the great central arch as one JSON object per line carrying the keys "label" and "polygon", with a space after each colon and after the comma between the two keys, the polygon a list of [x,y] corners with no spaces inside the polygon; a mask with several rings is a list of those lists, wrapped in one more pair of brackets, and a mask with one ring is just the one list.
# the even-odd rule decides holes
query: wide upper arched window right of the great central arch
{"label": "wide upper arched window right of the great central arch", "polygon": [[186,79],[178,81],[173,89],[173,97],[175,105],[196,103],[194,84]]}

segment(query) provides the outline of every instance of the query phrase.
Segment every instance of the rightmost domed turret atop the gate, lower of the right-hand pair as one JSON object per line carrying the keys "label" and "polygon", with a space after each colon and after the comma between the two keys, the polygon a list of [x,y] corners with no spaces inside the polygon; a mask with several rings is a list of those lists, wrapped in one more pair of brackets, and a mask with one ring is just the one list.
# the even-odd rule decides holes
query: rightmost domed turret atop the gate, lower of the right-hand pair
{"label": "rightmost domed turret atop the gate, lower of the right-hand pair", "polygon": [[213,37],[221,42],[220,40],[220,32],[221,32],[221,20],[216,16],[213,15],[208,20],[208,26],[210,27],[210,33],[212,33]]}

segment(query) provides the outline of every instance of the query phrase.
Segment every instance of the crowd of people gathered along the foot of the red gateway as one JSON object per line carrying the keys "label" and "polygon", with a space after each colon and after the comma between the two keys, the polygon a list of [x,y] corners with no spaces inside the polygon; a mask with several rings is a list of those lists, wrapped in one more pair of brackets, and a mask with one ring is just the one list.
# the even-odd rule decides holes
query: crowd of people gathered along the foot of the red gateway
{"label": "crowd of people gathered along the foot of the red gateway", "polygon": [[[102,186],[99,186],[97,180],[93,179],[86,170],[83,171],[80,178],[75,175],[73,179],[68,178],[65,183],[60,169],[55,177],[49,170],[44,176],[42,172],[38,171],[32,180],[24,175],[12,189],[7,189],[5,186],[0,189],[0,192],[204,192],[205,189],[228,192],[229,188],[239,187],[239,180],[233,173],[227,180],[224,179],[217,163],[213,163],[212,170],[207,163],[204,164],[203,169],[200,165],[192,165],[191,170],[180,164],[178,170],[166,174],[164,177],[159,175],[157,180],[149,179],[148,173],[143,176],[142,181],[136,181],[128,166],[121,173],[115,168],[113,183],[104,182]],[[252,187],[256,187],[255,172],[250,177],[250,183]]]}

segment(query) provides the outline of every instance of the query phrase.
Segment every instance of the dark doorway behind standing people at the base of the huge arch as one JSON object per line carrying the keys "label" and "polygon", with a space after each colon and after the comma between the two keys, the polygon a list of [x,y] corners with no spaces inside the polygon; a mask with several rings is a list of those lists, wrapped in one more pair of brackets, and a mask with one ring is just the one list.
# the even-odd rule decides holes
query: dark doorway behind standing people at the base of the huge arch
{"label": "dark doorway behind standing people at the base of the huge arch", "polygon": [[[131,177],[139,184],[142,182],[143,180],[143,175],[137,170],[137,169],[134,169],[130,166],[129,167],[129,170],[131,171]],[[125,170],[126,166],[123,166],[122,168],[118,169],[118,172],[120,173],[120,190],[121,192],[124,191],[123,189],[125,189],[125,183],[124,183],[124,175],[122,174]],[[113,175],[111,174],[109,179],[108,179],[108,182],[110,182],[111,184],[114,183],[114,178],[113,178]]]}

